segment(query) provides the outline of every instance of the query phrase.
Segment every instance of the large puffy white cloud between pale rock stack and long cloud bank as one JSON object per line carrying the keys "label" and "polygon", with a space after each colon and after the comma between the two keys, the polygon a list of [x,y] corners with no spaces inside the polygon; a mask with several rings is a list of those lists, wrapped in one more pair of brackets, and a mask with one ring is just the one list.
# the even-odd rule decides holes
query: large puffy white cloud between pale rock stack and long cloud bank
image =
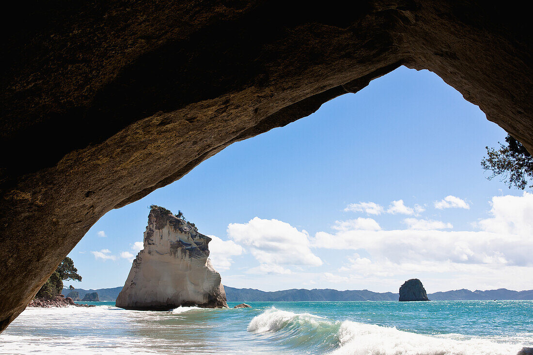
{"label": "large puffy white cloud between pale rock stack and long cloud bank", "polygon": [[246,246],[260,264],[271,268],[274,265],[322,265],[322,260],[310,249],[308,233],[289,223],[255,217],[247,223],[230,223],[228,236]]}

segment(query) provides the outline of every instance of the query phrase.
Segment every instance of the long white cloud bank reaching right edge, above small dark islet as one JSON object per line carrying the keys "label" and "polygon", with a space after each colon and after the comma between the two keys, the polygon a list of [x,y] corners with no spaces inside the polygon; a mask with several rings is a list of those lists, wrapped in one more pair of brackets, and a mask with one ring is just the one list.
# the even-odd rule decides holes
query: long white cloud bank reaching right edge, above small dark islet
{"label": "long white cloud bank reaching right edge, above small dark islet", "polygon": [[[478,223],[478,231],[446,231],[450,223],[407,218],[409,229],[338,229],[318,232],[315,247],[365,251],[373,263],[450,263],[533,267],[533,195],[495,196],[490,217]],[[357,259],[357,258],[356,258]],[[354,260],[356,260],[354,259]],[[375,270],[379,268],[376,267]],[[393,267],[389,268],[393,270]],[[480,269],[481,270],[481,269]]]}

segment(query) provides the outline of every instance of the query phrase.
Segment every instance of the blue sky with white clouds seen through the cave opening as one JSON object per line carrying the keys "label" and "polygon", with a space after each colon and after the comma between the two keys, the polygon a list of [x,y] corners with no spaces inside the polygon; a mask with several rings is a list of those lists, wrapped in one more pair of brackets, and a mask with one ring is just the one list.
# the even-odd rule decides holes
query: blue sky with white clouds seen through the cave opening
{"label": "blue sky with white clouds seen through the cave opening", "polygon": [[216,237],[228,286],[531,289],[531,195],[480,166],[505,135],[437,75],[401,67],[107,213],[69,254],[73,285],[124,285],[156,204]]}

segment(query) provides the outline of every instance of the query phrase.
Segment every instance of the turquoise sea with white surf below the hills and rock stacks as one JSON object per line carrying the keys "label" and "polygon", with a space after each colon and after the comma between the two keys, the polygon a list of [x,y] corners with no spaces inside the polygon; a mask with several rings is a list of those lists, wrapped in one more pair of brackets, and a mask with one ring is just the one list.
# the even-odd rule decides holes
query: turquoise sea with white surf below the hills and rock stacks
{"label": "turquoise sea with white surf below the hills and rock stacks", "polygon": [[533,346],[533,301],[250,302],[171,312],[79,303],[97,306],[28,308],[0,335],[0,353],[516,354]]}

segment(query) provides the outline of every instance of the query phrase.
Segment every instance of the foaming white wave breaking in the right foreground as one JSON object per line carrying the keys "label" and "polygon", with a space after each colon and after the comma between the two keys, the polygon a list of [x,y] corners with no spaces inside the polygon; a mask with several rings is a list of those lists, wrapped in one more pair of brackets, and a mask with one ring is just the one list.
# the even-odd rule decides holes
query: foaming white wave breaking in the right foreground
{"label": "foaming white wave breaking in the right foreground", "polygon": [[248,331],[289,349],[334,355],[498,355],[516,354],[522,348],[516,343],[459,334],[415,334],[394,327],[335,321],[273,307],[253,318]]}

